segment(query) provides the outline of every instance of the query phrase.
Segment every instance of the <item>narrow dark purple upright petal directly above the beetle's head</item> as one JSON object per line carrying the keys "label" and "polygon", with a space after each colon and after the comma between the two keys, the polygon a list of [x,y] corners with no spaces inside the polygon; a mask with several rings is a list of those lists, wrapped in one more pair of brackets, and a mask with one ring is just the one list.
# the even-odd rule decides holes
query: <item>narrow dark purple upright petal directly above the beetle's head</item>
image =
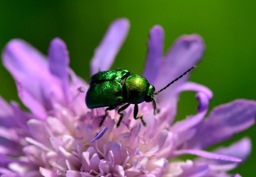
{"label": "narrow dark purple upright petal directly above the beetle's head", "polygon": [[142,74],[150,84],[154,84],[163,59],[163,38],[164,31],[161,26],[155,25],[151,28],[147,42],[147,60]]}

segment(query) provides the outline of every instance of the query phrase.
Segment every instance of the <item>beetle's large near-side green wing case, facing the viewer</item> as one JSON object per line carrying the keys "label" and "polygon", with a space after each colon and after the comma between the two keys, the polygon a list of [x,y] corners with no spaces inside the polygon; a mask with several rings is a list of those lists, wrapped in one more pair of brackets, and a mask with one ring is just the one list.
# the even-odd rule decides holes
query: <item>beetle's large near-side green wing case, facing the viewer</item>
{"label": "beetle's large near-side green wing case, facing the viewer", "polygon": [[86,93],[86,105],[88,108],[118,106],[124,103],[123,88],[117,80],[91,85]]}

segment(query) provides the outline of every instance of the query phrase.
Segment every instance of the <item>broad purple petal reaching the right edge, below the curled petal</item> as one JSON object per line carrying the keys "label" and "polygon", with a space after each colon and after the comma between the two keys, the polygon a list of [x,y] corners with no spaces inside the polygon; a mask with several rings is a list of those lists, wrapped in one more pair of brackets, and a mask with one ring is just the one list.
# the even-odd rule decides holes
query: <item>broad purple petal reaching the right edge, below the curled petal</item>
{"label": "broad purple petal reaching the right edge, below the curled petal", "polygon": [[255,123],[256,102],[238,99],[215,107],[208,118],[197,126],[188,148],[202,149],[233,137]]}

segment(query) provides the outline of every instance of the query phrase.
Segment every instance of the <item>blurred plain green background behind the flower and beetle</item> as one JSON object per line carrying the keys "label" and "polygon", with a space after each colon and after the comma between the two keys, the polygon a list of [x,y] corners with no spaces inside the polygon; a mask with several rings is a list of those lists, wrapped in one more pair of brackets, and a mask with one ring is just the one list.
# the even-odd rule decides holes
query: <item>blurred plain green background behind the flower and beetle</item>
{"label": "blurred plain green background behind the flower and beetle", "polygon": [[[148,31],[155,24],[165,29],[165,50],[182,34],[203,36],[207,50],[192,81],[214,92],[210,110],[237,98],[256,100],[256,1],[0,1],[0,48],[13,38],[22,38],[47,54],[50,40],[58,36],[69,50],[71,68],[89,79],[89,61],[108,25],[127,17],[131,29],[112,68],[141,73],[146,57]],[[134,65],[133,63],[137,63]],[[18,100],[14,81],[0,66],[0,94]],[[194,93],[183,93],[178,119],[196,112]],[[249,160],[233,173],[256,174],[256,126],[236,135],[250,136]]]}

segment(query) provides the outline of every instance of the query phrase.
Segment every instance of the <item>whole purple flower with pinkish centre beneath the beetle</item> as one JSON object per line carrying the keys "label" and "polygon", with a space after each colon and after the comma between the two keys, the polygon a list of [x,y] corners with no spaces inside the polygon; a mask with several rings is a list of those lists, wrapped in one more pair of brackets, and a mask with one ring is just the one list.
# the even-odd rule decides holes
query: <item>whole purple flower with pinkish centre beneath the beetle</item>
{"label": "whole purple flower with pinkish centre beneath the beetle", "polygon": [[[91,60],[91,74],[109,70],[129,28],[126,19],[114,21]],[[200,61],[204,43],[199,35],[184,35],[163,54],[163,29],[150,30],[143,76],[161,89]],[[212,92],[189,82],[188,75],[156,96],[160,112],[139,104],[147,126],[124,111],[116,127],[117,110],[88,109],[88,84],[68,67],[65,43],[50,43],[45,57],[22,40],[10,41],[3,51],[4,66],[16,81],[29,112],[0,98],[0,174],[3,176],[230,176],[227,172],[246,160],[251,141],[243,138],[229,147],[206,152],[254,124],[256,102],[239,99],[215,107],[205,118]],[[154,72],[152,72],[154,71]],[[174,122],[182,91],[195,91],[197,114]],[[185,111],[185,110],[184,110]],[[192,154],[194,159],[181,160]],[[239,174],[236,174],[239,176]]]}

